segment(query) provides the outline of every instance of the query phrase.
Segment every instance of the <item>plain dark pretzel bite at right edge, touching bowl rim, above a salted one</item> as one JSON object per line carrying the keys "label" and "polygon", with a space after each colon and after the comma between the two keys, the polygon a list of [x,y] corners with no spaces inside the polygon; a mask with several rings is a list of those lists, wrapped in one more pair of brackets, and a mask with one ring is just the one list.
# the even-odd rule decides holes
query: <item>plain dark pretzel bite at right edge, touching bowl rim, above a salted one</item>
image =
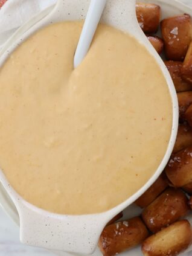
{"label": "plain dark pretzel bite at right edge, touching bowl rim, above a salted one", "polygon": [[188,124],[179,124],[178,135],[174,144],[173,153],[192,145],[192,129]]}

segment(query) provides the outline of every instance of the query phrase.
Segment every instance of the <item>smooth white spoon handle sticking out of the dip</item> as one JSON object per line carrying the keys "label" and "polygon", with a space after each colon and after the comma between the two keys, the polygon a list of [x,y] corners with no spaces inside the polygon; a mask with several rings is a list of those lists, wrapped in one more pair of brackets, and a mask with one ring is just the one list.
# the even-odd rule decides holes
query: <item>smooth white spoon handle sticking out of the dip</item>
{"label": "smooth white spoon handle sticking out of the dip", "polygon": [[107,0],[91,0],[89,5],[88,14],[83,25],[82,34],[78,41],[77,50],[74,56],[74,68],[82,62],[88,53],[92,39],[97,29],[98,22],[100,22],[101,15]]}

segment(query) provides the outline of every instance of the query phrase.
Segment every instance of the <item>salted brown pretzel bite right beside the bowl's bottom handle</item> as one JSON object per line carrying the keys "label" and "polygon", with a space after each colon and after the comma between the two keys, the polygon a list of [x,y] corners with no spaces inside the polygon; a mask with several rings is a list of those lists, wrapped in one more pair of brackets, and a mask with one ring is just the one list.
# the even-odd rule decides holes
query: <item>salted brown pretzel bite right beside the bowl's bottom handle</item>
{"label": "salted brown pretzel bite right beside the bowl's bottom handle", "polygon": [[139,217],[106,226],[98,246],[104,256],[113,256],[139,245],[149,236],[146,226]]}

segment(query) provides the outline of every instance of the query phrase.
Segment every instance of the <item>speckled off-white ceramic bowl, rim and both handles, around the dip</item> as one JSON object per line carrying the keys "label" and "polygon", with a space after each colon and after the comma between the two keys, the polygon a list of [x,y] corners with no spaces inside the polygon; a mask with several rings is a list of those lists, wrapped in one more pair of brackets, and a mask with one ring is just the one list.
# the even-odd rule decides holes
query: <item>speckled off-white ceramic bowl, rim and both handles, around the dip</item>
{"label": "speckled off-white ceramic bowl, rim and both handles, around the dip", "polygon": [[[19,28],[13,37],[4,45],[4,48],[0,52],[0,66],[16,46],[39,28],[59,21],[85,19],[89,2],[88,0],[58,0],[53,10],[49,8],[49,10],[45,10],[34,17],[22,28]],[[167,0],[153,2],[157,2],[160,5],[164,3],[164,5],[168,6]],[[46,15],[48,12],[49,14]],[[146,45],[146,48],[156,57],[157,62],[161,66],[173,102],[173,127],[167,152],[155,174],[136,194],[110,211],[83,216],[65,216],[48,213],[31,205],[11,188],[4,174],[0,171],[1,184],[18,210],[21,242],[28,245],[51,250],[76,252],[84,255],[91,254],[97,246],[98,238],[106,223],[117,213],[133,203],[155,182],[167,164],[173,150],[178,129],[178,100],[176,92],[164,63],[146,39],[146,36],[142,33],[136,21],[135,0],[108,0],[101,21],[135,36],[142,44]]]}

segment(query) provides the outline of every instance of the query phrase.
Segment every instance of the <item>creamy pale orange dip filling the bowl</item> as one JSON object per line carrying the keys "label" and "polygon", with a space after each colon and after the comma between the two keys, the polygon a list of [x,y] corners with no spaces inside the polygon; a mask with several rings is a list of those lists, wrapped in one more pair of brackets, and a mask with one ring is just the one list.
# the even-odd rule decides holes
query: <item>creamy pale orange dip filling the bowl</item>
{"label": "creamy pale orange dip filling the bowl", "polygon": [[82,22],[43,28],[0,70],[0,166],[28,202],[100,213],[128,199],[167,150],[171,97],[134,38],[99,25],[77,69]]}

